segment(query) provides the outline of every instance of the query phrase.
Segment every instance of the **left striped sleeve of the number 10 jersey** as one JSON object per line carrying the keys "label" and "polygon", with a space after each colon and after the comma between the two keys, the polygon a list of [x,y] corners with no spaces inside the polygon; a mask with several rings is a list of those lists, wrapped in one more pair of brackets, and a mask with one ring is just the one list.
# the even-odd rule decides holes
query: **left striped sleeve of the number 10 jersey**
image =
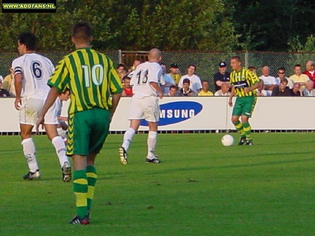
{"label": "left striped sleeve of the number 10 jersey", "polygon": [[62,59],[48,80],[47,85],[56,88],[59,93],[62,93],[68,87],[68,84],[69,71],[66,67],[65,59]]}

